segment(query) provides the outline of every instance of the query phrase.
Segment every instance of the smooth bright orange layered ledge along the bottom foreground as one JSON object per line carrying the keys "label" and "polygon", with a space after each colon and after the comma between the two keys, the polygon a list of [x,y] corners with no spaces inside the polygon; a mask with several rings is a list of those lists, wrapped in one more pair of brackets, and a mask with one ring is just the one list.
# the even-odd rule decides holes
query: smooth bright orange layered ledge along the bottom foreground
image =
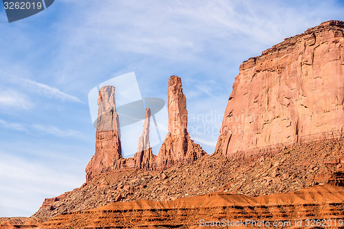
{"label": "smooth bright orange layered ledge along the bottom foreground", "polygon": [[343,187],[312,186],[259,197],[213,193],[175,201],[137,200],[63,214],[43,228],[204,228],[212,221],[240,228],[240,220],[247,223],[242,228],[307,228],[324,216],[326,221],[319,221],[323,228],[343,228]]}

